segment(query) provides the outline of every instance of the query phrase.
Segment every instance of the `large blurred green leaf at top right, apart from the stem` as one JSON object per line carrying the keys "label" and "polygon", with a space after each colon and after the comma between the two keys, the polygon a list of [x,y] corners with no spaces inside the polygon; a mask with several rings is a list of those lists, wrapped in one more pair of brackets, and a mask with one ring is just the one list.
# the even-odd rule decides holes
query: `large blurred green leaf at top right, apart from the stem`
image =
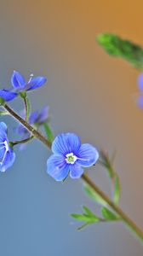
{"label": "large blurred green leaf at top right, apart from the stem", "polygon": [[143,69],[143,48],[115,34],[102,33],[97,42],[109,55],[121,57],[136,68]]}

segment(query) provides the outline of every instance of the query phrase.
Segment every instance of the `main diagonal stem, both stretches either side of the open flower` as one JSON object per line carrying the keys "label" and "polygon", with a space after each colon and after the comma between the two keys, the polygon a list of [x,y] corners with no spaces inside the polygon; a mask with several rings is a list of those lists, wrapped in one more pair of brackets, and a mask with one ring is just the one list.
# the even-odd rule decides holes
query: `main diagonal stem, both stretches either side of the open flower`
{"label": "main diagonal stem, both stretches either side of the open flower", "polygon": [[[34,137],[37,137],[37,139],[41,141],[46,147],[51,148],[51,143],[49,142],[49,140],[43,137],[40,132],[35,130],[31,125],[26,122],[26,120],[22,119],[17,113],[15,113],[12,108],[9,108],[6,103],[3,103],[3,108],[5,108],[10,113],[10,115],[14,117],[14,119],[17,119],[22,125],[24,125],[28,131],[31,131],[31,134]],[[143,232],[136,224],[134,224],[133,220],[130,219],[120,207],[112,202],[110,198],[102,190],[100,190],[86,174],[83,174],[82,178],[85,183],[88,183],[88,185],[92,189],[94,189],[94,191],[98,195],[100,195],[100,197],[104,201],[106,201],[108,206],[110,206],[114,212],[117,212],[118,216],[123,220],[124,224],[129,228],[129,230],[131,230],[134,235],[140,239],[141,243],[143,243]]]}

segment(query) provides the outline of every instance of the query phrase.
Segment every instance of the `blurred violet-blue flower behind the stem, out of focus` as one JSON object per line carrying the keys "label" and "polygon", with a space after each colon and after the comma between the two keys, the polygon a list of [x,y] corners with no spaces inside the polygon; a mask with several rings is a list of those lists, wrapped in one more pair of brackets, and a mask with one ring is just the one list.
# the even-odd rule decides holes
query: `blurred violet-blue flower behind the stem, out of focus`
{"label": "blurred violet-blue flower behind the stem, out of focus", "polygon": [[[25,113],[22,113],[22,117],[25,116]],[[45,106],[42,108],[41,111],[34,111],[30,114],[30,117],[28,119],[28,123],[30,125],[43,125],[43,123],[47,122],[49,119],[49,106]],[[24,140],[31,136],[30,132],[26,129],[23,125],[18,125],[15,129],[15,132],[17,132],[21,139]],[[20,149],[24,149],[26,147],[26,144],[20,144]]]}

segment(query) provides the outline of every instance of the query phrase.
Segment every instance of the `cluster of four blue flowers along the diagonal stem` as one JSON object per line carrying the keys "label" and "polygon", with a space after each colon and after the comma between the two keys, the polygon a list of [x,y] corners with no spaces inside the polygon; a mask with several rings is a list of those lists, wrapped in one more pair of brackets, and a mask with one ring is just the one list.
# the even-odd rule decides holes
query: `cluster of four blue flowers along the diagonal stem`
{"label": "cluster of four blue flowers along the diagonal stem", "polygon": [[[14,71],[11,77],[11,84],[13,85],[10,89],[0,90],[0,97],[5,102],[14,100],[16,96],[21,96],[26,99],[26,92],[35,90],[43,84],[47,79],[44,77],[33,78],[30,76],[28,82],[24,77],[17,71]],[[3,104],[3,108],[6,106]],[[6,108],[6,107],[5,107]],[[8,108],[7,108],[8,109]],[[27,116],[27,108],[25,109],[25,116]],[[24,117],[22,115],[22,119]],[[10,142],[7,137],[7,126],[0,123],[0,171],[6,171],[10,166],[13,165],[15,160],[14,145],[20,144],[20,148],[23,147],[23,143],[28,142],[31,139],[33,129],[38,133],[38,129],[41,125],[44,125],[49,119],[49,107],[44,107],[41,111],[35,111],[28,114],[27,119],[22,121],[14,131],[21,136],[21,141]],[[19,119],[20,120],[20,119]],[[27,125],[31,125],[30,131],[27,129]],[[35,127],[35,128],[33,128]],[[51,136],[49,127],[46,126],[46,131]],[[40,137],[43,137],[40,135]],[[49,137],[49,136],[48,136]],[[52,136],[53,137],[53,136]],[[43,137],[45,142],[45,138]],[[47,141],[46,141],[47,142]],[[21,144],[22,143],[22,144]],[[50,143],[49,143],[50,144]],[[83,174],[84,167],[90,167],[95,164],[99,158],[99,153],[96,148],[92,145],[85,143],[81,144],[80,138],[74,133],[61,133],[54,138],[51,149],[52,154],[47,161],[47,172],[51,177],[54,177],[56,181],[65,180],[68,174],[72,178],[81,177]]]}

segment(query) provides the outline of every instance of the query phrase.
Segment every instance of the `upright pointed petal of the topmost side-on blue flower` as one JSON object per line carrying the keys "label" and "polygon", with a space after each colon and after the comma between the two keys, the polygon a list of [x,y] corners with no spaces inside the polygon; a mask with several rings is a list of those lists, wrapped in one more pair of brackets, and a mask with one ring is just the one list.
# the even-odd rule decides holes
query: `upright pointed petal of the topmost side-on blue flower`
{"label": "upright pointed petal of the topmost side-on blue flower", "polygon": [[26,81],[19,72],[14,71],[11,76],[11,84],[14,86],[14,88],[21,89],[25,86]]}

